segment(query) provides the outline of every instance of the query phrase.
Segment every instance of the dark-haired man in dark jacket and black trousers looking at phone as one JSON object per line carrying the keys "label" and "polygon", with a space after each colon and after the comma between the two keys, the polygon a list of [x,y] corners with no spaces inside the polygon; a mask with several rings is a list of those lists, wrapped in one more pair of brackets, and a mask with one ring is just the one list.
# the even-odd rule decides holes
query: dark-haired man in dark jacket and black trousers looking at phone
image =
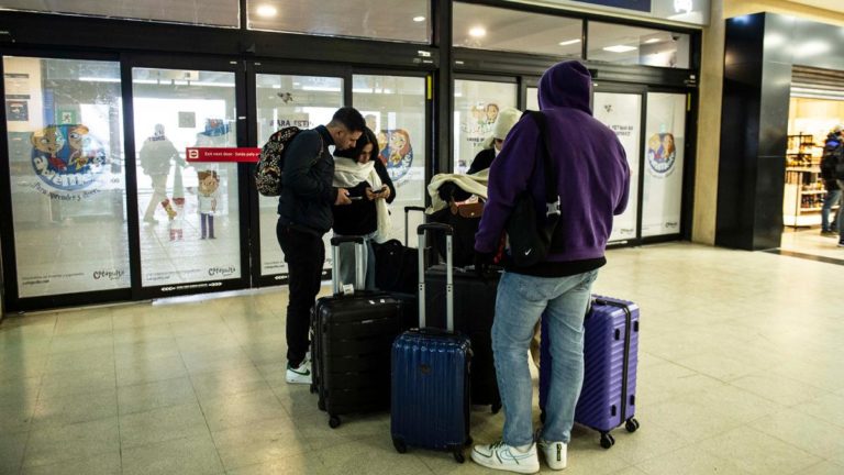
{"label": "dark-haired man in dark jacket and black trousers looking at phone", "polygon": [[366,122],[353,108],[338,109],[327,125],[300,132],[285,153],[276,234],[287,263],[288,383],[310,384],[308,360],[310,311],[322,280],[322,235],[333,223],[331,206],[349,205],[348,190],[332,187],[334,158],[329,146],[355,146]]}

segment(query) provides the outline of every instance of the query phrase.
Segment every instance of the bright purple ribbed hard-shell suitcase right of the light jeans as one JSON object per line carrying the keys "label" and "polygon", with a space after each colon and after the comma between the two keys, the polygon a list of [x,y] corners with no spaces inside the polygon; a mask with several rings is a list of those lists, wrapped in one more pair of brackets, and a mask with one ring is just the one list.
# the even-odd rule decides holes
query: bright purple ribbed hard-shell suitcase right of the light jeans
{"label": "bright purple ribbed hard-shell suitcase right of the light jeans", "polygon": [[[610,431],[624,424],[638,429],[636,413],[636,365],[638,353],[638,306],[626,300],[593,296],[584,321],[584,387],[575,409],[575,422],[601,433],[601,446],[615,440]],[[542,321],[540,346],[540,409],[544,409],[551,379],[551,349]]]}

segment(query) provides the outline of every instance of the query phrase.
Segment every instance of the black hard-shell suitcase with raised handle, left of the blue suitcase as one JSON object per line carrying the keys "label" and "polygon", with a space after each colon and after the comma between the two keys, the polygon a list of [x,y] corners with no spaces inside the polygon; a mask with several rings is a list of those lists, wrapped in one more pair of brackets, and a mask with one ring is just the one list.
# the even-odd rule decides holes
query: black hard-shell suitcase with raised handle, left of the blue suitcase
{"label": "black hard-shell suitcase with raised handle, left of the blue suitcase", "polygon": [[[363,239],[333,238],[334,264],[337,246],[355,242],[357,288],[363,288]],[[340,416],[384,410],[390,404],[390,347],[406,328],[400,300],[380,291],[341,291],[333,273],[334,295],[316,300],[311,314],[313,331],[311,391],[319,394],[319,408],[329,412],[329,426],[340,426]]]}

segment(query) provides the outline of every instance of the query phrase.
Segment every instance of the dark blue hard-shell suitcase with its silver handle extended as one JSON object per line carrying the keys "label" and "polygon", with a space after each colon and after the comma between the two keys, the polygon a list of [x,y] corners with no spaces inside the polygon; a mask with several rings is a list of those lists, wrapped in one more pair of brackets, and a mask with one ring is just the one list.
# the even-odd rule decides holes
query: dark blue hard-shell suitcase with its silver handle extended
{"label": "dark blue hard-shell suitcase with its silver handle extended", "polygon": [[469,361],[466,336],[453,333],[454,295],[452,230],[444,224],[419,227],[419,248],[425,230],[446,233],[446,321],[448,331],[425,328],[425,276],[419,253],[419,329],[402,333],[392,344],[390,432],[399,453],[408,446],[449,451],[463,463],[469,438]]}

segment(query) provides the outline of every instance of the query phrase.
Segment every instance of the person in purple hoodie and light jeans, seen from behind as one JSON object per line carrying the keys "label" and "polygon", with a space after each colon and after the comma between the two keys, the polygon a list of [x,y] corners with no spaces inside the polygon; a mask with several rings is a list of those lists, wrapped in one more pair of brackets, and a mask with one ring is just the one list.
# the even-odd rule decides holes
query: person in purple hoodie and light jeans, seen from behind
{"label": "person in purple hoodie and light jeans, seen from behind", "polygon": [[[566,467],[566,448],[584,379],[584,316],[612,217],[628,206],[630,169],[615,134],[592,117],[591,76],[563,62],[540,79],[540,109],[556,164],[560,219],[551,251],[531,267],[507,266],[498,285],[492,351],[504,407],[503,440],[476,445],[475,462],[496,470],[535,473],[537,448],[553,470]],[[510,131],[489,170],[489,200],[475,236],[476,264],[492,262],[517,198],[531,190],[537,219],[545,217],[545,170],[540,130],[525,114]],[[542,221],[538,221],[542,222]],[[534,439],[528,347],[540,318],[548,321],[553,368],[545,426]]]}

